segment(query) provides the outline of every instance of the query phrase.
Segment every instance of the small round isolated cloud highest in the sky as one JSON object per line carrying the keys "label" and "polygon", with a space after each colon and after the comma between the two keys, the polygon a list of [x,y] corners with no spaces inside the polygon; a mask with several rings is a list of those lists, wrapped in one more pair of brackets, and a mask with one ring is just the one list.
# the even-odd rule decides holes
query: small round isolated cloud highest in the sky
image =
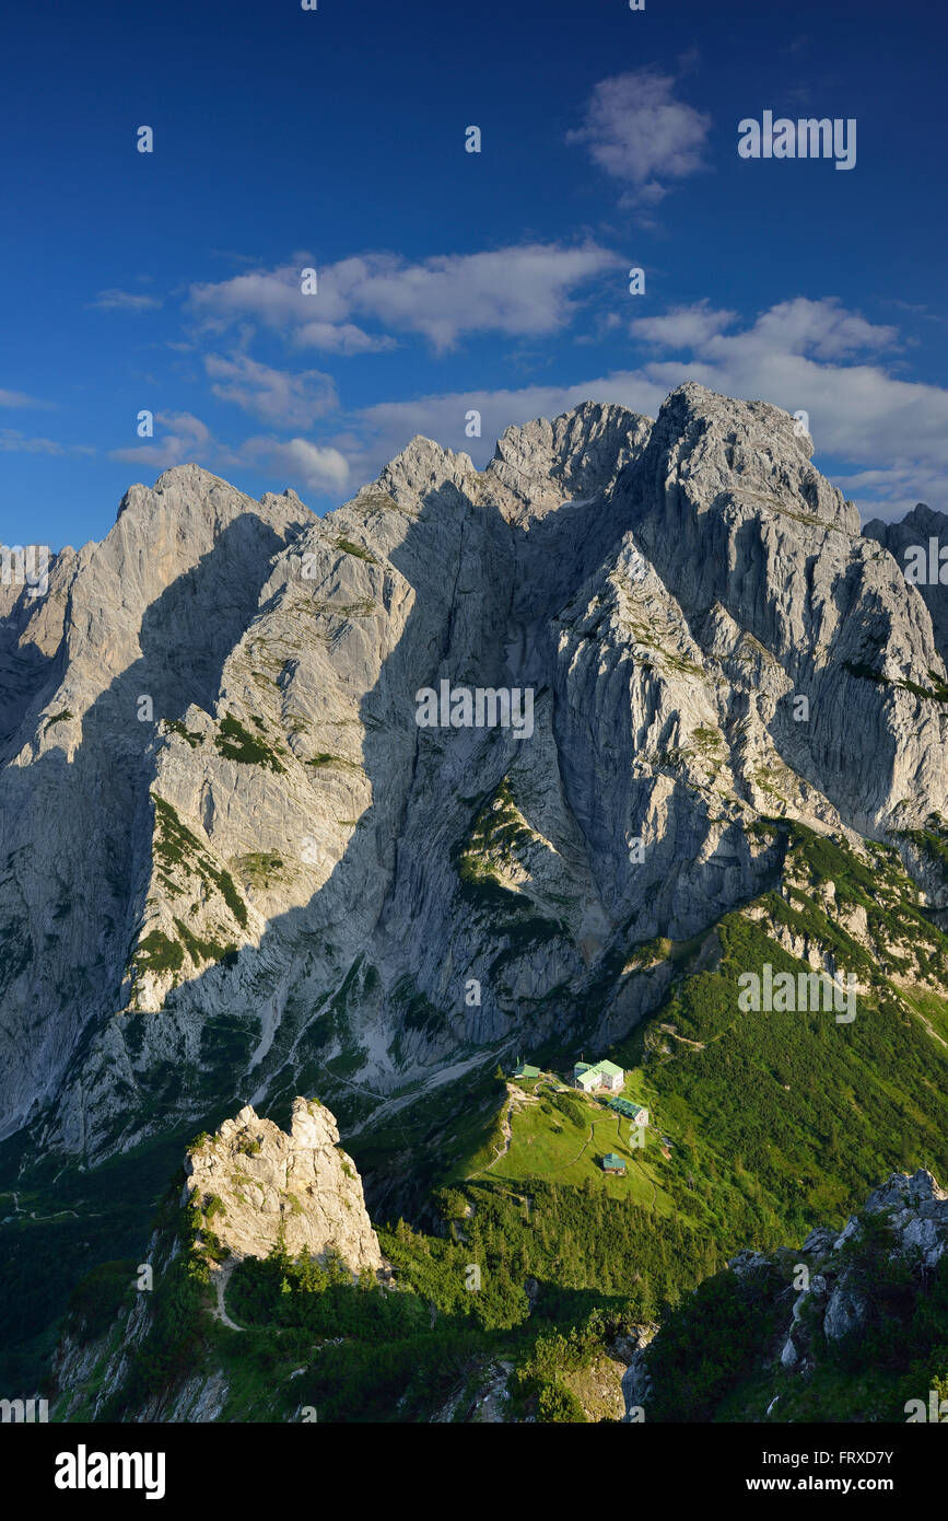
{"label": "small round isolated cloud highest in the sky", "polygon": [[629,186],[627,199],[661,201],[665,179],[684,179],[703,164],[711,117],[675,99],[675,79],[634,68],[602,79],[586,103],[583,125],[567,132],[592,163]]}

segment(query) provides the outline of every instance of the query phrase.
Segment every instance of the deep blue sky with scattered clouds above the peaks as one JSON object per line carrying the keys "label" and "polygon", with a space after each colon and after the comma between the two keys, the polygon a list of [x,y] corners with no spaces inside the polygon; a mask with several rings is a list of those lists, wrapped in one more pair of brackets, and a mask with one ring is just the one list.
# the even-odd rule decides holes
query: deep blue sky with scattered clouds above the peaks
{"label": "deep blue sky with scattered clouds above the peaks", "polygon": [[[946,40],[918,0],[21,8],[0,540],[99,538],[185,459],[324,511],[416,432],[483,464],[687,377],[807,411],[863,516],[946,508]],[[766,110],[855,119],[855,167],[743,160]]]}

